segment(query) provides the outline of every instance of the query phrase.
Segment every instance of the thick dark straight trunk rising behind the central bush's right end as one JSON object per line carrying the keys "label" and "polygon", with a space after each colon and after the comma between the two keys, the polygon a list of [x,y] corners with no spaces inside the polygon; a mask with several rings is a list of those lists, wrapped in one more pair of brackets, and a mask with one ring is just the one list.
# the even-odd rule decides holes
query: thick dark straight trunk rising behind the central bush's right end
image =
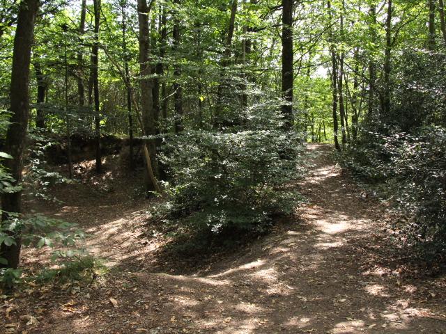
{"label": "thick dark straight trunk rising behind the central bush's right end", "polygon": [[293,123],[293,0],[282,0],[282,116],[284,129]]}

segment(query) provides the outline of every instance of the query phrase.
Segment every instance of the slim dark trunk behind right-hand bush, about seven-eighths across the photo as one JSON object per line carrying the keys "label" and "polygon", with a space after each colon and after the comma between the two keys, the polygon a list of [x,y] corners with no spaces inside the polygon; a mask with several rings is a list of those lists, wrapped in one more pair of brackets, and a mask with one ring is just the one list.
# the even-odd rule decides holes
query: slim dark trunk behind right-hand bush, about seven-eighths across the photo
{"label": "slim dark trunk behind right-hand bush, about seven-eighths across the photo", "polygon": [[385,19],[385,52],[384,52],[384,96],[381,106],[381,120],[390,114],[390,65],[392,56],[392,0],[387,0],[387,18]]}

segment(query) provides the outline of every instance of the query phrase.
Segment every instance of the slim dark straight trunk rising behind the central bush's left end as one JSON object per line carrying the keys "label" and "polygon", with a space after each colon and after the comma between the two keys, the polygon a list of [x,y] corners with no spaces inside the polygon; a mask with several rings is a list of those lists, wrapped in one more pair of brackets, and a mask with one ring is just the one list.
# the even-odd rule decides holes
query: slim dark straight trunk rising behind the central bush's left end
{"label": "slim dark straight trunk rising behind the central bush's left end", "polygon": [[[180,0],[174,0],[176,6],[180,5]],[[181,65],[178,61],[179,49],[180,49],[180,18],[178,10],[175,8],[174,12],[174,54],[176,56],[176,62],[174,65],[174,107],[175,107],[175,132],[178,134],[183,131],[183,88],[180,84],[181,77]]]}

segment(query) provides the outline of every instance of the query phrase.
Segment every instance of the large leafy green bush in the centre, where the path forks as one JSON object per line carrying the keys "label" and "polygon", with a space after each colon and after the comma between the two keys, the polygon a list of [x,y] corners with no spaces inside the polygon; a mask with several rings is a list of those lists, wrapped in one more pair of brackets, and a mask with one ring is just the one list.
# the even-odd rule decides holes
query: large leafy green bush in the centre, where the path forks
{"label": "large leafy green bush in the centre, where the path forks", "polygon": [[268,110],[269,115],[252,115],[251,129],[244,131],[167,138],[160,159],[169,166],[169,196],[155,214],[218,233],[261,232],[273,215],[291,213],[298,195],[285,186],[302,175],[302,145],[294,133],[274,130],[280,118]]}

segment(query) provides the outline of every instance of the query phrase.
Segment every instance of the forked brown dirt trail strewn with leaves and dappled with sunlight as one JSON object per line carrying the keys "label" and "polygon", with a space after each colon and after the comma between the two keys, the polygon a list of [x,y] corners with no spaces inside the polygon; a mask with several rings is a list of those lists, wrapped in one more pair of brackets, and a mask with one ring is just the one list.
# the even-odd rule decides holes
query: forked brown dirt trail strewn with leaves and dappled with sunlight
{"label": "forked brown dirt trail strewn with leaves and dappled with sunlight", "polygon": [[[387,256],[395,250],[388,251],[392,244],[385,232],[385,207],[362,198],[335,166],[328,145],[308,147],[314,167],[298,184],[308,199],[298,208],[298,218],[241,253],[210,264],[206,272],[181,275],[180,264],[163,272],[151,255],[157,244],[134,241],[130,234],[144,228],[140,210],[146,202],[129,207],[128,202],[104,205],[102,199],[88,198],[84,207],[62,207],[55,214],[88,221],[94,234],[89,246],[112,269],[85,292],[62,291],[51,299],[50,292],[36,292],[24,312],[36,315],[39,322],[22,330],[446,333],[440,295],[445,278],[404,276],[399,262]],[[129,235],[122,238],[122,233]],[[26,265],[33,255],[26,250]]]}

